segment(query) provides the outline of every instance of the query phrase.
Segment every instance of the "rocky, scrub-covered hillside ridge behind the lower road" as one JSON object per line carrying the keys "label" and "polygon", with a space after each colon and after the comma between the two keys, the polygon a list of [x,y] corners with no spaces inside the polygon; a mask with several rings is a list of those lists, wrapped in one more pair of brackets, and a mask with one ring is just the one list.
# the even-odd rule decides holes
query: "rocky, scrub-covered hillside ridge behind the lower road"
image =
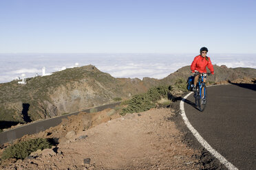
{"label": "rocky, scrub-covered hillside ridge behind the lower road", "polygon": [[[208,78],[211,83],[256,77],[256,69],[214,68],[215,75]],[[25,123],[129,99],[153,86],[185,82],[189,75],[189,66],[184,66],[162,80],[114,78],[88,65],[28,78],[26,85],[17,81],[3,83],[0,84],[0,124]]]}

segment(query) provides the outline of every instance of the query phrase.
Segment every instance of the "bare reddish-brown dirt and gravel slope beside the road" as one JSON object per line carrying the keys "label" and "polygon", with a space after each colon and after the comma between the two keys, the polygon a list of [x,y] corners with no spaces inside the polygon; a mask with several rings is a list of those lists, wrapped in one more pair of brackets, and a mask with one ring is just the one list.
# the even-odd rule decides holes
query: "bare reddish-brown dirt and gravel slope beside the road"
{"label": "bare reddish-brown dirt and gravel slope beside the road", "polygon": [[151,109],[120,117],[114,110],[81,112],[45,132],[26,138],[58,138],[52,149],[24,160],[8,160],[1,169],[205,169],[202,148],[184,142],[175,110]]}

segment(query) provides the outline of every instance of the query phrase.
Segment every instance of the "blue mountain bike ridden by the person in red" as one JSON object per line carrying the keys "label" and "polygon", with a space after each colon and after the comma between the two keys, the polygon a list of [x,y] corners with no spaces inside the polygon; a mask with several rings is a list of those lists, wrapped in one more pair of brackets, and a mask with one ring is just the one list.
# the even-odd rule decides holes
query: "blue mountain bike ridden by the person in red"
{"label": "blue mountain bike ridden by the person in red", "polygon": [[198,83],[196,84],[196,90],[194,91],[195,97],[195,106],[198,107],[198,110],[201,112],[204,111],[206,107],[206,97],[207,97],[207,89],[206,84],[204,83],[204,78],[206,75],[211,75],[211,73],[195,73],[195,75],[199,75]]}

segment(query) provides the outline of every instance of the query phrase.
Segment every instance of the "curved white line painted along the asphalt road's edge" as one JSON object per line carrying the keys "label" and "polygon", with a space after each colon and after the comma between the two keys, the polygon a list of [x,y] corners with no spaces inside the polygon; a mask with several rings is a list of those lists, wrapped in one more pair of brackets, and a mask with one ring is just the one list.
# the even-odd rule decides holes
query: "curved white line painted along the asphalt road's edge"
{"label": "curved white line painted along the asphalt road's edge", "polygon": [[[182,119],[184,120],[184,123],[186,124],[186,127],[189,128],[189,130],[192,132],[192,134],[195,136],[195,138],[198,140],[199,143],[201,143],[201,145],[207,149],[215,158],[217,158],[218,160],[220,160],[220,162],[226,166],[227,169],[237,169],[237,167],[235,167],[233,164],[231,164],[231,162],[228,162],[228,160],[226,160],[226,158],[224,158],[224,156],[222,156],[220,153],[218,153],[215,149],[213,149],[213,147],[211,147],[211,145],[209,145],[209,143],[207,143],[204,138],[202,138],[202,136],[198,133],[197,130],[195,130],[195,128],[191,125],[191,123],[189,122],[189,119],[186,117],[186,113],[184,110],[184,100],[189,97],[189,95],[191,95],[193,92],[187,94],[184,99],[182,99],[182,101],[180,101],[180,111],[181,111],[181,115],[182,115]],[[238,169],[237,169],[238,170]]]}

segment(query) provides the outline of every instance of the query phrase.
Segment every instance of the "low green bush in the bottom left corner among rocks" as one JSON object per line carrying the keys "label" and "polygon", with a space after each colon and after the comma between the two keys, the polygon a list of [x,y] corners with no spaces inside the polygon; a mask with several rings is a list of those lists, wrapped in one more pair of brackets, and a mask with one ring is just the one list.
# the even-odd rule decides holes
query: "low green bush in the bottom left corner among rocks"
{"label": "low green bush in the bottom left corner among rocks", "polygon": [[50,147],[52,147],[52,145],[46,138],[33,138],[29,139],[28,141],[23,141],[6,148],[3,151],[1,158],[24,159],[28,157],[33,151]]}

